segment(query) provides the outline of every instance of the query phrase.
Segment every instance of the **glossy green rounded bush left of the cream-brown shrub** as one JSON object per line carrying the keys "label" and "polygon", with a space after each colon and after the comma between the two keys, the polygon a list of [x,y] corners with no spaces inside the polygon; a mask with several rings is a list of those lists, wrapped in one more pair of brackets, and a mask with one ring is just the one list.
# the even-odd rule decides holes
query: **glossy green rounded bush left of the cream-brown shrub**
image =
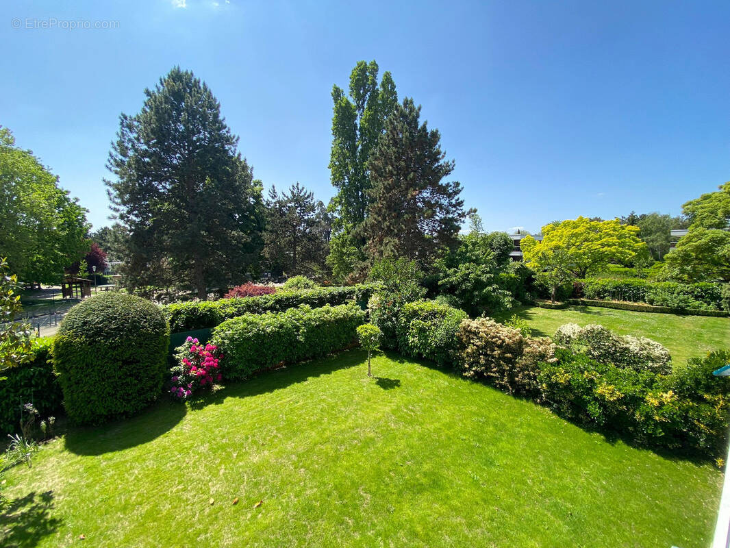
{"label": "glossy green rounded bush left of the cream-brown shrub", "polygon": [[407,356],[431,359],[439,365],[453,362],[456,332],[466,317],[466,312],[440,302],[409,302],[397,328],[399,349]]}

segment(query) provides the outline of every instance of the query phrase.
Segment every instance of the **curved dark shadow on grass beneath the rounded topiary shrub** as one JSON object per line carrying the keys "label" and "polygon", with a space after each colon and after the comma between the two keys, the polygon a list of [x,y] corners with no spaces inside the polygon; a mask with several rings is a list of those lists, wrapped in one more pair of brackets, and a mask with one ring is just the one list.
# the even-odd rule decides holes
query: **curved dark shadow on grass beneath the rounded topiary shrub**
{"label": "curved dark shadow on grass beneath the rounded topiary shrub", "polygon": [[166,433],[185,416],[187,408],[162,396],[138,415],[98,427],[72,427],[64,438],[66,449],[75,454],[96,455],[146,444]]}

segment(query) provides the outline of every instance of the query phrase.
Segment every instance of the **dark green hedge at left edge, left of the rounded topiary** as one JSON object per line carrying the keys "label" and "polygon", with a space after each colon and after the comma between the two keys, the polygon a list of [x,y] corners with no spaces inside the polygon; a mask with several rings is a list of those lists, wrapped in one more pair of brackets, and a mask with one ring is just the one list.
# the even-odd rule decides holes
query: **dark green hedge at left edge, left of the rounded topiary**
{"label": "dark green hedge at left edge, left of the rounded topiary", "polygon": [[0,432],[20,431],[20,408],[32,403],[41,417],[55,416],[61,409],[61,387],[53,373],[51,339],[33,341],[33,359],[0,374]]}

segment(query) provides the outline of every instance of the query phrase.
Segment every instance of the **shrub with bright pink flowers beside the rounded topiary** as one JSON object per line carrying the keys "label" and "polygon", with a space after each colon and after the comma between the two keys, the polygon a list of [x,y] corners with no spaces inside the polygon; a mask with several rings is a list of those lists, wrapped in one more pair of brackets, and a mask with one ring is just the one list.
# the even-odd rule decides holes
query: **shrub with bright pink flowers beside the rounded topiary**
{"label": "shrub with bright pink flowers beside the rounded topiary", "polygon": [[188,400],[201,388],[210,388],[220,381],[218,348],[212,344],[203,345],[198,339],[188,337],[175,351],[177,365],[171,370],[170,394],[178,400]]}

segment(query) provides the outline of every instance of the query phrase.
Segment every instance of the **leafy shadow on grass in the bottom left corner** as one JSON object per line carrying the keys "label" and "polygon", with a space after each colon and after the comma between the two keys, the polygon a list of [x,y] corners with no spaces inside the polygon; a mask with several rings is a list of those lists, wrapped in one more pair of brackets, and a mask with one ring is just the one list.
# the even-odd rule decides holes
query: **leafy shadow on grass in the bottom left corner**
{"label": "leafy shadow on grass in the bottom left corner", "polygon": [[53,491],[0,501],[0,544],[5,548],[37,546],[61,525],[62,520],[51,517],[52,510]]}

